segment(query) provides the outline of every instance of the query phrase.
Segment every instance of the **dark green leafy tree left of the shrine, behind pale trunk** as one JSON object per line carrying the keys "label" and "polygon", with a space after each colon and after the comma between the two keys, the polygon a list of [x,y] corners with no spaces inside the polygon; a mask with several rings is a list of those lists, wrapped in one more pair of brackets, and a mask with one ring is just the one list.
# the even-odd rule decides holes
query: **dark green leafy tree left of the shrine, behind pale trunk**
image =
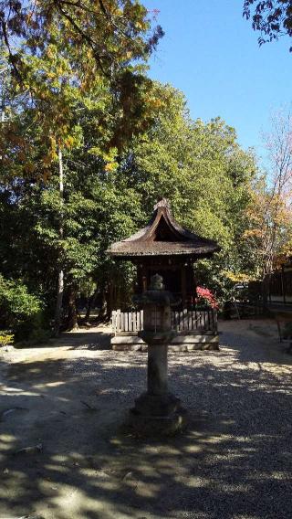
{"label": "dark green leafy tree left of the shrine, behind pale trunk", "polygon": [[[10,175],[0,193],[3,272],[23,277],[52,308],[56,281],[62,271],[69,328],[77,323],[75,301],[79,288],[89,279],[98,279],[99,291],[103,286],[106,291],[112,275],[119,278],[118,269],[113,269],[105,250],[111,240],[134,230],[130,214],[136,208],[134,189],[131,195],[124,194],[122,184],[113,181],[110,168],[116,163],[110,161],[110,155],[106,161],[98,154],[97,112],[85,109],[80,113],[78,123],[85,135],[84,144],[64,150],[62,198],[57,164],[51,164],[50,175],[45,175],[46,164],[39,160],[41,141],[37,128],[31,125],[29,111],[27,119],[23,112],[22,122],[26,133],[28,128],[34,129],[29,160],[36,170],[34,175],[22,178]],[[22,167],[21,157],[16,157],[13,167],[16,172]]]}

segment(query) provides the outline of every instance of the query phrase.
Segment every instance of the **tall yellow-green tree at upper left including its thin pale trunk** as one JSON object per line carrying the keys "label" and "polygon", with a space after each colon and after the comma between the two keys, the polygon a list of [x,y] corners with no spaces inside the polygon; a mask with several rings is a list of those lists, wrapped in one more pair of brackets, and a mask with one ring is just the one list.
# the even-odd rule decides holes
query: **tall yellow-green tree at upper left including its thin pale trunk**
{"label": "tall yellow-green tree at upper left including its thin pale trunk", "polygon": [[[17,189],[21,178],[52,179],[48,190],[37,185],[31,201],[38,196],[40,207],[44,199],[54,200],[47,232],[58,266],[56,331],[72,249],[66,240],[63,157],[78,148],[89,153],[82,121],[88,111],[94,122],[90,153],[99,156],[101,169],[151,125],[161,100],[145,63],[163,35],[160,26],[151,29],[151,21],[136,0],[0,2],[1,72],[8,70],[0,79],[0,174],[8,182],[18,178]],[[26,196],[20,195],[21,203]]]}

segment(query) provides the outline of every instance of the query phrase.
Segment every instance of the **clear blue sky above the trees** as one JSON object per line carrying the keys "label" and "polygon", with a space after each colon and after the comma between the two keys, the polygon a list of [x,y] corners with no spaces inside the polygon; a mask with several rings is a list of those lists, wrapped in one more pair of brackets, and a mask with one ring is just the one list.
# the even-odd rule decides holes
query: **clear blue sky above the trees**
{"label": "clear blue sky above the trees", "polygon": [[264,156],[261,132],[272,111],[291,103],[288,37],[258,47],[243,0],[144,0],[159,9],[165,36],[151,58],[150,76],[183,90],[192,117],[221,116],[245,148]]}

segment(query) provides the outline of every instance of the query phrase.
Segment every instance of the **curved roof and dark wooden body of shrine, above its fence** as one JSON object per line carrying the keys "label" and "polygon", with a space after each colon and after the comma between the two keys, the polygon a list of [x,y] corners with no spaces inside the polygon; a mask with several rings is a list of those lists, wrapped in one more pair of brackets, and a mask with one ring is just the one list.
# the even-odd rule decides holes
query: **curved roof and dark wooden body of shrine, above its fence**
{"label": "curved roof and dark wooden body of shrine, above its fence", "polygon": [[150,286],[151,276],[160,274],[165,290],[182,299],[183,307],[193,304],[195,280],[193,262],[210,258],[218,244],[181,227],[172,217],[168,201],[162,198],[145,228],[130,238],[114,243],[110,255],[137,265],[138,293]]}

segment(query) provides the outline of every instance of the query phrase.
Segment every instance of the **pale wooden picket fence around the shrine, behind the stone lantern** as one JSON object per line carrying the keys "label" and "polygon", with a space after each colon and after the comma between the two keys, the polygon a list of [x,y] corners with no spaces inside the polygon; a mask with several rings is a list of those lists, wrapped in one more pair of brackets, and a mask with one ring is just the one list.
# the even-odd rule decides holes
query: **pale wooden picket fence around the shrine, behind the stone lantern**
{"label": "pale wooden picket fence around the shrine, behind the stone lantern", "polygon": [[[143,329],[143,311],[130,310],[111,314],[112,331],[114,334],[137,334]],[[172,311],[172,330],[181,333],[217,332],[217,311],[208,310]]]}

